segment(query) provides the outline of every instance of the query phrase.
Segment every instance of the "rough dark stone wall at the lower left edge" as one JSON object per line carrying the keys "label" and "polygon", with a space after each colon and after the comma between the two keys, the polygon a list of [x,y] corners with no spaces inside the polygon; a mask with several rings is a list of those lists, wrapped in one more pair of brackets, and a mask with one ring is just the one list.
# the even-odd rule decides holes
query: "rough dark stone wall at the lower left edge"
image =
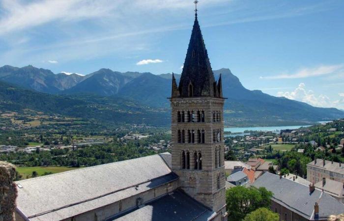
{"label": "rough dark stone wall at the lower left edge", "polygon": [[0,221],[14,221],[17,188],[12,182],[16,176],[12,164],[0,161]]}

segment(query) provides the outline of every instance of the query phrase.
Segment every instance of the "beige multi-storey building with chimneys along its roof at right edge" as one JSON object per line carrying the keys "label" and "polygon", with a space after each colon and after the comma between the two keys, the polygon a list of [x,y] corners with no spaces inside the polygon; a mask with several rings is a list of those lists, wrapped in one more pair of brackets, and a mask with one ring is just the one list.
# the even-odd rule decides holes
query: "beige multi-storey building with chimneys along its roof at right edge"
{"label": "beige multi-storey building with chimneys along its roof at right edge", "polygon": [[322,181],[322,178],[344,182],[344,165],[337,162],[315,159],[307,164],[307,180],[311,183]]}

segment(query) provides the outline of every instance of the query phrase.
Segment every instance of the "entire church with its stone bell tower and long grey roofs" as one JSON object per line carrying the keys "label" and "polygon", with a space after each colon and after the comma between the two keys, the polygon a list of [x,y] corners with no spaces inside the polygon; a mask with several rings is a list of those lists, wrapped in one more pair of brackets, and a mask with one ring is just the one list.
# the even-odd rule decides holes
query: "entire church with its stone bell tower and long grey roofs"
{"label": "entire church with its stone bell tower and long grey roofs", "polygon": [[[195,1],[197,3],[197,1]],[[17,181],[17,221],[225,221],[224,101],[197,10],[179,86],[172,77],[172,155]]]}

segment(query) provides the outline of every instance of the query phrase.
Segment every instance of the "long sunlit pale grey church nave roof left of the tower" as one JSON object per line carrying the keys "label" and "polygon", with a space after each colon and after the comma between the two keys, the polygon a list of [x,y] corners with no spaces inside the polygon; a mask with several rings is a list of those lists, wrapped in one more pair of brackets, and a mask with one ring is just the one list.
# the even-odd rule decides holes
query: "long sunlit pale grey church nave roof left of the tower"
{"label": "long sunlit pale grey church nave roof left of the tower", "polygon": [[159,155],[56,173],[17,181],[17,211],[30,221],[63,220],[175,179]]}

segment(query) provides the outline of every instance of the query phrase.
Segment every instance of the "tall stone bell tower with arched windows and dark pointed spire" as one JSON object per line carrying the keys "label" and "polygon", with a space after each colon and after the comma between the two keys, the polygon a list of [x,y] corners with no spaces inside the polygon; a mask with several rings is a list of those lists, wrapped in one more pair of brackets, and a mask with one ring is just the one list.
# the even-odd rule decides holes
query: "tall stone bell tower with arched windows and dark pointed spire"
{"label": "tall stone bell tower with arched windows and dark pointed spire", "polygon": [[172,77],[172,170],[182,190],[226,219],[221,76],[215,81],[197,19],[177,86]]}

